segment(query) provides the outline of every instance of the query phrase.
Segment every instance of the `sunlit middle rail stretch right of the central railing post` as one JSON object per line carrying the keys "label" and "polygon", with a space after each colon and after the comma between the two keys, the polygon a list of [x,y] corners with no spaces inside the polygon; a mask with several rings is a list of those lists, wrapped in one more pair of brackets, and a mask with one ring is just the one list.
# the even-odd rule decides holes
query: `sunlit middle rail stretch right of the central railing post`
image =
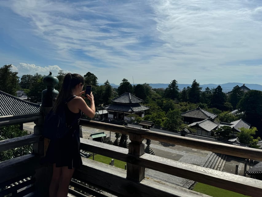
{"label": "sunlit middle rail stretch right of the central railing post", "polygon": [[262,194],[262,181],[257,179],[181,163],[149,154],[140,156],[136,164],[244,195],[259,197]]}

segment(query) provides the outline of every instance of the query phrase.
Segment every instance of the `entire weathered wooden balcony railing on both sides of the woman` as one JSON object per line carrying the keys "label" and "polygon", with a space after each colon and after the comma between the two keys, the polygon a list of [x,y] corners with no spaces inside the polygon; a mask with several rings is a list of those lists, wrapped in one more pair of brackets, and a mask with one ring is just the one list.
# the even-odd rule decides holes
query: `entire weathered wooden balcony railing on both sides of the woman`
{"label": "entire weathered wooden balcony railing on both sides of the woman", "polygon": [[[34,128],[34,135],[27,135],[0,142],[0,151],[33,143],[32,154],[0,163],[0,188],[31,176],[32,180],[35,180],[35,192],[38,192],[36,196],[41,196],[40,191],[48,191],[49,178],[46,177],[46,172],[49,168],[39,164],[39,159],[43,155],[44,149],[44,140],[41,137],[43,120],[40,117],[35,117],[34,121],[36,126]],[[21,120],[18,122],[21,123]],[[12,123],[15,123],[15,121],[12,121]],[[0,126],[3,125],[1,124],[0,119]],[[8,124],[6,120],[4,124]],[[241,158],[250,158],[258,161],[262,161],[262,150],[96,121],[81,120],[80,124],[81,126],[129,135],[129,139],[131,140],[129,149],[99,143],[88,139],[80,139],[80,148],[83,150],[88,150],[90,152],[127,162],[127,170],[123,170],[91,159],[82,158],[83,165],[79,169],[76,169],[74,173],[75,179],[88,183],[89,185],[100,188],[111,194],[117,196],[143,197],[207,196],[183,187],[171,185],[170,183],[145,177],[145,168],[206,183],[208,185],[235,191],[244,195],[258,197],[262,194],[262,181],[260,180],[149,155],[144,153],[145,146],[142,141],[143,139],[158,140],[160,142],[173,143],[176,145],[233,155]],[[30,182],[30,184],[32,184],[32,182]],[[82,187],[82,189],[84,190],[84,187]],[[11,193],[15,192],[17,192],[17,188],[15,188]],[[5,195],[6,191],[2,191],[2,193],[0,192],[0,196],[2,194]]]}

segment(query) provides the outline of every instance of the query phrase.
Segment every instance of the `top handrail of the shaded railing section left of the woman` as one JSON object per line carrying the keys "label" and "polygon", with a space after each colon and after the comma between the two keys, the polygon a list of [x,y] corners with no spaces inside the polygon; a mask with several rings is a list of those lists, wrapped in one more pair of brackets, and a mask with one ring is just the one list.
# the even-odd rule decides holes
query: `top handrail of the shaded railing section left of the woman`
{"label": "top handrail of the shaded railing section left of the woman", "polygon": [[29,123],[39,118],[43,118],[40,112],[32,113],[32,114],[1,116],[0,127],[7,126],[7,125],[20,124],[20,123]]}

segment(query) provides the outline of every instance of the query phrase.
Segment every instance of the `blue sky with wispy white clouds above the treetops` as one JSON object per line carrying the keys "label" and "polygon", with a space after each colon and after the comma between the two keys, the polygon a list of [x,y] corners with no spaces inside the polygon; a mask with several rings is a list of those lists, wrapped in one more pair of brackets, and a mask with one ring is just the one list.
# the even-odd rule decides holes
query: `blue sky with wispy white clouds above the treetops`
{"label": "blue sky with wispy white clouds above the treetops", "polygon": [[262,85],[261,0],[1,0],[0,66],[99,83]]}

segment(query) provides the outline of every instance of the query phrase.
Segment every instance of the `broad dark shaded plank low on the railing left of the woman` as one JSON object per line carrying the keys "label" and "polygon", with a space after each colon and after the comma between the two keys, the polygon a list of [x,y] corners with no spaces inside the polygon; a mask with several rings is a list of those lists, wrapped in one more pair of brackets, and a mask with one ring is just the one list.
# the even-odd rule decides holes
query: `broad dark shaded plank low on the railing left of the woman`
{"label": "broad dark shaded plank low on the railing left of the woman", "polygon": [[39,157],[33,154],[0,162],[0,183],[23,175],[33,175],[39,166]]}

